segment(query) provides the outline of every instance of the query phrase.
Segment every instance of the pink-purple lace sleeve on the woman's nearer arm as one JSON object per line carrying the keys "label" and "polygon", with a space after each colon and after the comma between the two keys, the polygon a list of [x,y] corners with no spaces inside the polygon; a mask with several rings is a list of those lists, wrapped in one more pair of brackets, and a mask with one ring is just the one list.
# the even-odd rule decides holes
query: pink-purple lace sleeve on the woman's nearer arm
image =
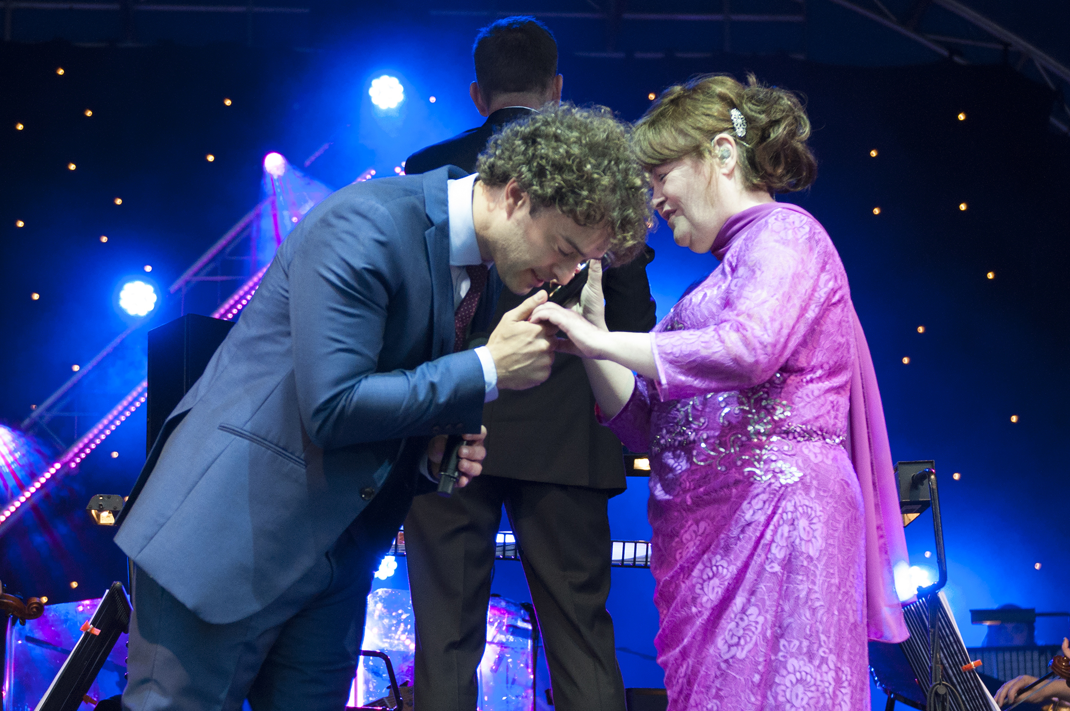
{"label": "pink-purple lace sleeve on the woman's nearer arm", "polygon": [[831,243],[809,220],[777,227],[767,222],[730,253],[724,305],[709,326],[653,334],[661,399],[752,388],[798,347],[837,286]]}

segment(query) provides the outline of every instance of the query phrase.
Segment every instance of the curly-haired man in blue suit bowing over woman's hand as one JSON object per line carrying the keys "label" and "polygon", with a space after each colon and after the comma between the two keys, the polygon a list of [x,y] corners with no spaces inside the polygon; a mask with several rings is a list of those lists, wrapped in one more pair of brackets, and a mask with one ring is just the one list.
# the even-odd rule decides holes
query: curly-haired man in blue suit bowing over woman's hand
{"label": "curly-haired man in blue suit bowing over woman's hand", "polygon": [[644,176],[608,110],[514,124],[478,170],[350,185],[279,247],[123,512],[124,708],[345,706],[372,571],[441,436],[470,434],[478,474],[484,403],[550,372],[526,322],[542,292],[465,349],[489,268],[526,293],[643,245]]}

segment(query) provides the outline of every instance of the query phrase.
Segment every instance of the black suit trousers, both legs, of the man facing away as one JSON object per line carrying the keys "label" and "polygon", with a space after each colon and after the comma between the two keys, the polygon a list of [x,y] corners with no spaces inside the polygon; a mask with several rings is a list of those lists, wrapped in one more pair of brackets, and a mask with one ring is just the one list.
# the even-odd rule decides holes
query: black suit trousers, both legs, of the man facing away
{"label": "black suit trousers, both legs, of the man facing away", "polygon": [[[406,519],[421,711],[474,711],[502,504],[521,548],[557,711],[624,711],[610,588],[610,491],[484,474]],[[505,565],[516,563],[506,562]],[[541,684],[540,684],[541,686]]]}

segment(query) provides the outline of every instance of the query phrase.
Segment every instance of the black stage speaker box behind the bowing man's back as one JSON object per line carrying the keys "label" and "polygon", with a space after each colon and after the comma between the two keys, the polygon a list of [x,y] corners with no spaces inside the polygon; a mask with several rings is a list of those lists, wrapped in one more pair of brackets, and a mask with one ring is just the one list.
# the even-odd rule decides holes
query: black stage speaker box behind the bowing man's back
{"label": "black stage speaker box behind the bowing man's back", "polygon": [[204,373],[234,321],[186,314],[149,332],[149,420],[146,452],[152,449],[167,415]]}

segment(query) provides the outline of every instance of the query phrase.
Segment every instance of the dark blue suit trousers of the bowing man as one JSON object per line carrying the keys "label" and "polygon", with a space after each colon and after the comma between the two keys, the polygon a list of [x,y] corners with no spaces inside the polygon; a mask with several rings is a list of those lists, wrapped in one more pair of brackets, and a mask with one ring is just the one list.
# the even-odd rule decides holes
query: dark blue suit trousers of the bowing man
{"label": "dark blue suit trousers of the bowing man", "polygon": [[345,708],[371,577],[411,496],[387,480],[308,573],[230,624],[204,622],[137,570],[124,710],[238,711],[246,697],[254,711]]}

